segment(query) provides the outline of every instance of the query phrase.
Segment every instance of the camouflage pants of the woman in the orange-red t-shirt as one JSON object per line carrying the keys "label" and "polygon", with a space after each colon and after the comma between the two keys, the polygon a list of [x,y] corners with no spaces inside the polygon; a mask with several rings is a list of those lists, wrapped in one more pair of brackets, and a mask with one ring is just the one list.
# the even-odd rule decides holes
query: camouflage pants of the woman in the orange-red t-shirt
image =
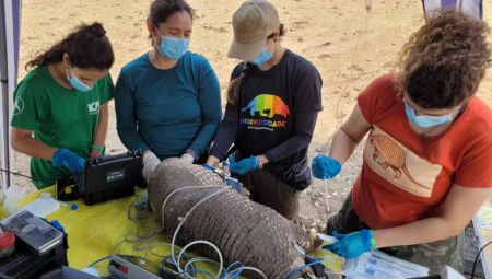
{"label": "camouflage pants of the woman in the orange-red t-shirt", "polygon": [[[349,194],[340,211],[328,219],[327,234],[332,235],[333,231],[348,234],[363,229],[371,228],[355,213],[352,204],[352,194]],[[441,268],[445,265],[462,274],[462,239],[461,233],[447,240],[432,243],[387,247],[379,251],[390,256],[429,267],[431,269],[430,275],[438,275]]]}

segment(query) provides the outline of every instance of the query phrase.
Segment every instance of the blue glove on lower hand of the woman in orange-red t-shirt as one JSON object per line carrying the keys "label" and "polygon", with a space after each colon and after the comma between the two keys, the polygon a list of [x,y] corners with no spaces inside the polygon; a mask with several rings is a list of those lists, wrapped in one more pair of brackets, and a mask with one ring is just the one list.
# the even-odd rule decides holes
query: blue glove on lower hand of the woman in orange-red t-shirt
{"label": "blue glove on lower hand of the woman in orange-red t-shirt", "polygon": [[325,245],[323,246],[323,249],[330,251],[347,259],[356,258],[366,252],[371,252],[371,236],[367,230],[351,234],[339,234],[338,232],[333,232],[333,236],[339,240],[339,242]]}

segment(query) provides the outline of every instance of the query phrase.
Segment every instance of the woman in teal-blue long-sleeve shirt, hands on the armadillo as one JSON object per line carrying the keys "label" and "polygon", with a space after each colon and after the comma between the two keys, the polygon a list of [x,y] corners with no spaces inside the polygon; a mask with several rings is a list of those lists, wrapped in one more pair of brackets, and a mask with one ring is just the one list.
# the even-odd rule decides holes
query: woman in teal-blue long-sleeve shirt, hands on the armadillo
{"label": "woman in teal-blue long-sleeve shirt, hands on the armadillo", "polygon": [[215,72],[187,50],[191,8],[184,0],[155,0],[147,27],[152,50],[121,69],[115,92],[119,138],[129,150],[144,152],[145,179],[161,160],[196,162],[222,117]]}

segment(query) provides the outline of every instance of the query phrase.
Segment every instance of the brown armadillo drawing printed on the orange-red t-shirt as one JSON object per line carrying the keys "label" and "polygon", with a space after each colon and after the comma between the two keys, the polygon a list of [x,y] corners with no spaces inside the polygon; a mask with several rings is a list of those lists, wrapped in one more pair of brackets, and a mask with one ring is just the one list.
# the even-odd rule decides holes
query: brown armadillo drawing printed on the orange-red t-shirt
{"label": "brown armadillo drawing printed on the orange-red t-shirt", "polygon": [[[425,189],[431,189],[430,187],[415,182],[415,179],[413,179],[413,177],[410,175],[410,172],[408,171],[406,165],[407,163],[405,151],[396,142],[382,135],[373,135],[370,139],[370,142],[375,148],[373,153],[374,161],[376,161],[384,168],[387,168],[388,166],[391,167],[391,170],[395,172],[395,178],[399,179],[401,177],[401,172],[403,172],[405,175],[407,175],[407,177],[417,186]],[[377,161],[377,156],[379,154],[384,159],[384,162]]]}

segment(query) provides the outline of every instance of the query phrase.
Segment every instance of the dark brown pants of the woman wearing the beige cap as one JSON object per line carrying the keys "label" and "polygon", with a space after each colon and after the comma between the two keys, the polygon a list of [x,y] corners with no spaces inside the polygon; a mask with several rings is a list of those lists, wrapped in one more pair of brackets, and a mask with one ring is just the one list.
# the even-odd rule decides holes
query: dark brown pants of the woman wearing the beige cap
{"label": "dark brown pants of the woman wearing the beige cap", "polygon": [[298,197],[295,190],[267,170],[256,170],[245,175],[232,174],[249,190],[249,198],[267,206],[289,220],[293,220],[300,211]]}

